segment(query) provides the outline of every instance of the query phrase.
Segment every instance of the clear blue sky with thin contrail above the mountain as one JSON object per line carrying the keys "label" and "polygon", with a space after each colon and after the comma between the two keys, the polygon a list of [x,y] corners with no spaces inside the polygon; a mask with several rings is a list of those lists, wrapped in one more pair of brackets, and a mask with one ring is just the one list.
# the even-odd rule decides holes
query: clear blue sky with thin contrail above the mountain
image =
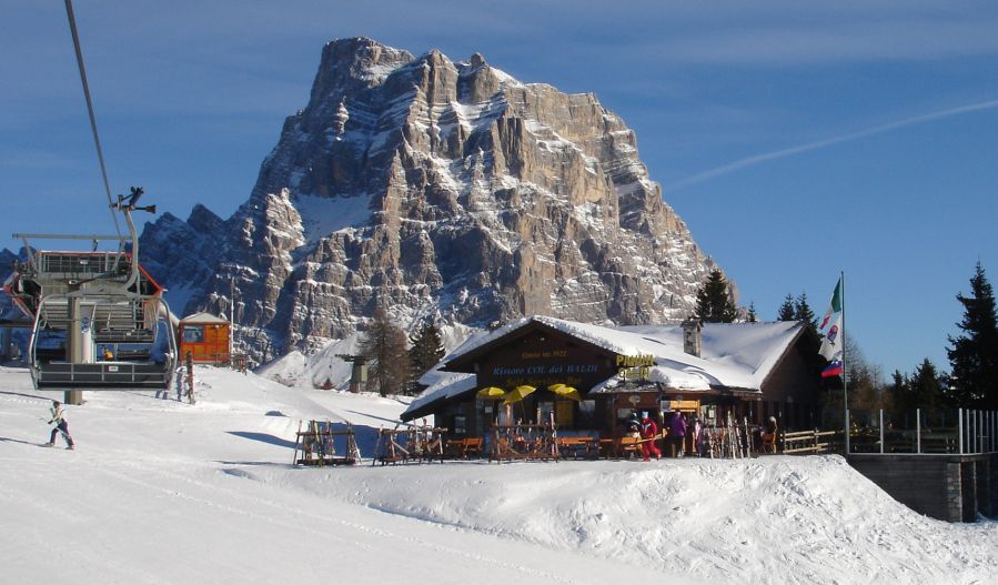
{"label": "clear blue sky with thin contrail above the mountain", "polygon": [[[824,312],[885,373],[998,284],[998,2],[88,1],[77,23],[111,188],[187,218],[244,201],[330,39],[594,92],[704,251],[774,319]],[[0,0],[0,246],[113,233],[63,2]]]}

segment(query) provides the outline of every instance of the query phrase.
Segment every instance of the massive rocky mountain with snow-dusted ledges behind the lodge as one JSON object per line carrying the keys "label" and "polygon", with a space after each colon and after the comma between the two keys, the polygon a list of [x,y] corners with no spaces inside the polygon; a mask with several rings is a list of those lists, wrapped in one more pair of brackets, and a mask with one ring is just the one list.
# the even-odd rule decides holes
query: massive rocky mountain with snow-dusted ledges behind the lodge
{"label": "massive rocky mountain with snow-dusted ledges behind the lodge", "polygon": [[713,268],[595,95],[360,38],[325,46],[232,218],[199,206],[142,238],[183,312],[234,302],[260,357],[349,335],[377,305],[403,325],[678,320]]}

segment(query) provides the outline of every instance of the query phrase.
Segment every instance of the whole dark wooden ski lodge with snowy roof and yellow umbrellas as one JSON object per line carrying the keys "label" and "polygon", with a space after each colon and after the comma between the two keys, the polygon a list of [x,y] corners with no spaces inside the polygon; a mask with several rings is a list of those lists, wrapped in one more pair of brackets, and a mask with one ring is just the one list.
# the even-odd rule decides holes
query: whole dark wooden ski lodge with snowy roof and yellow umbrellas
{"label": "whole dark wooden ski lodge with snowy roof and yellow umbrellas", "polygon": [[402,414],[452,436],[545,424],[619,437],[635,412],[697,414],[813,428],[820,420],[818,340],[796,322],[599,326],[532,316],[473,339],[421,380]]}

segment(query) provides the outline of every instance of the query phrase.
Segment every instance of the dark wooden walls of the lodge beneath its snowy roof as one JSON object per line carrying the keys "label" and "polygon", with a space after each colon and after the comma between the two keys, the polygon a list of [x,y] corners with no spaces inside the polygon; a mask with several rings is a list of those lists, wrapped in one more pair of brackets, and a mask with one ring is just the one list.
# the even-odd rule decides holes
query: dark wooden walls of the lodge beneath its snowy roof
{"label": "dark wooden walls of the lodge beneath its snowy roof", "polygon": [[[762,389],[712,385],[683,391],[642,377],[642,367],[627,366],[628,359],[596,342],[536,320],[454,357],[445,372],[475,374],[473,389],[429,400],[411,407],[404,420],[433,414],[435,424],[455,436],[485,436],[494,425],[546,423],[553,416],[560,431],[592,432],[619,436],[626,418],[647,412],[662,421],[666,411],[696,413],[707,424],[723,425],[730,415],[739,423],[760,424],[769,415],[780,427],[809,427],[819,420],[819,369],[817,340],[796,334],[776,360]],[[648,356],[651,359],[651,356]],[[622,377],[616,386],[605,381]],[[565,384],[582,400],[555,394],[551,386]],[[495,386],[536,389],[520,402],[482,399],[476,390]],[[444,393],[444,395],[446,395]]]}

